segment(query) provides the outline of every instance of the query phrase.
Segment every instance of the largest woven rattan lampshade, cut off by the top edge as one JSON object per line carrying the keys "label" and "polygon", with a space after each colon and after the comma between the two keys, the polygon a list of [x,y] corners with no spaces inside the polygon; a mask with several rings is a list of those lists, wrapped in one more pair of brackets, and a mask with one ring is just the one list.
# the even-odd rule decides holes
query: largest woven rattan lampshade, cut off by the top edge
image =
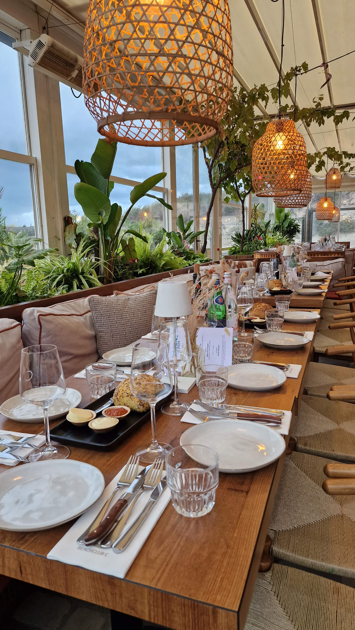
{"label": "largest woven rattan lampshade, cut off by the top edge", "polygon": [[90,0],[84,99],[108,139],[202,142],[219,129],[232,87],[227,0]]}

